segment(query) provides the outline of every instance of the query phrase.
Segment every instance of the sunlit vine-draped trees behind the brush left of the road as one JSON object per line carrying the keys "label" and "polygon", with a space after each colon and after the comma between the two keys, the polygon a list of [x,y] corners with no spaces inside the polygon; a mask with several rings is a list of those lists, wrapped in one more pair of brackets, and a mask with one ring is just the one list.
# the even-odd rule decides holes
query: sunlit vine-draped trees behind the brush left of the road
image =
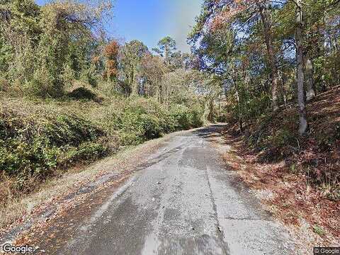
{"label": "sunlit vine-draped trees behind the brush left of the road", "polygon": [[108,97],[154,97],[169,106],[188,103],[186,94],[191,94],[191,103],[196,101],[193,91],[203,77],[195,79],[195,57],[177,51],[169,36],[152,51],[138,40],[108,38],[103,20],[111,8],[110,0],[60,0],[45,6],[33,0],[2,1],[0,89],[60,98],[74,81],[82,81]]}

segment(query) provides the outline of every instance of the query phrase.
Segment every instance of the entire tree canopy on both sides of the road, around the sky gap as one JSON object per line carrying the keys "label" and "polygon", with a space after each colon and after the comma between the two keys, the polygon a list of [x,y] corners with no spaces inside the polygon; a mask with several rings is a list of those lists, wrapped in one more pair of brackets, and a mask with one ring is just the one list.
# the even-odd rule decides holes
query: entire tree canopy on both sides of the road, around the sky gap
{"label": "entire tree canopy on both sides of the road, around the sky gap", "polygon": [[111,1],[86,3],[1,1],[1,90],[58,98],[84,81],[108,96],[154,97],[165,106],[190,94],[210,120],[224,94],[225,113],[242,131],[296,101],[305,135],[306,102],[340,83],[336,0],[205,0],[188,36],[192,54],[169,36],[152,50],[108,38]]}

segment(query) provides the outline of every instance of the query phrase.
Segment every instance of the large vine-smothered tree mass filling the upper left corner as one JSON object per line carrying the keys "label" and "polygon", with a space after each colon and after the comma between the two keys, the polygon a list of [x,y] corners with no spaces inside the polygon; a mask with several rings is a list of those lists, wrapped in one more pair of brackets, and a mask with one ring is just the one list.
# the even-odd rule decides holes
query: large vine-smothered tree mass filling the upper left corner
{"label": "large vine-smothered tree mass filling the upper left corner", "polygon": [[111,6],[111,0],[58,0],[41,7],[33,0],[1,1],[1,45],[11,50],[6,77],[30,93],[62,96],[69,78],[91,68],[95,31]]}

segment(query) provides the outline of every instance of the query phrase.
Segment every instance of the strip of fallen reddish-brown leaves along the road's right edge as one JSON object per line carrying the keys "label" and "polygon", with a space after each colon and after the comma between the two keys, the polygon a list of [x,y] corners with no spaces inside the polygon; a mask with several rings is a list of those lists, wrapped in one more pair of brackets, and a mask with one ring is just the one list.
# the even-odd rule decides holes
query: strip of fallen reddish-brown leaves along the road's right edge
{"label": "strip of fallen reddish-brown leaves along the road's right edge", "polygon": [[[303,180],[295,180],[291,174],[281,173],[279,169],[283,162],[259,164],[245,153],[242,141],[226,131],[223,135],[212,137],[211,142],[222,154],[227,171],[234,173],[238,182],[248,187],[259,198],[263,208],[284,225],[296,240],[298,254],[311,254],[314,246],[339,246],[336,234],[314,231],[315,226],[322,224],[322,211],[337,210],[339,215],[339,204],[336,209],[336,205],[335,208],[327,207],[327,203],[319,201],[319,209],[313,207],[310,199],[303,196],[305,193],[312,196],[313,191],[303,190],[307,188]],[[337,225],[339,222],[334,217],[334,224],[329,227],[336,229]]]}

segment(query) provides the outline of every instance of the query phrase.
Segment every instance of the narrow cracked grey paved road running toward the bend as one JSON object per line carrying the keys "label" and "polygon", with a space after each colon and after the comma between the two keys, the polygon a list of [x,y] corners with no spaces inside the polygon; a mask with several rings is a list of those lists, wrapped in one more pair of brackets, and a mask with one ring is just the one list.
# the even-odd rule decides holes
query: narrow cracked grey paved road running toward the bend
{"label": "narrow cracked grey paved road running toward the bend", "polygon": [[209,142],[222,128],[172,137],[57,254],[294,254]]}

